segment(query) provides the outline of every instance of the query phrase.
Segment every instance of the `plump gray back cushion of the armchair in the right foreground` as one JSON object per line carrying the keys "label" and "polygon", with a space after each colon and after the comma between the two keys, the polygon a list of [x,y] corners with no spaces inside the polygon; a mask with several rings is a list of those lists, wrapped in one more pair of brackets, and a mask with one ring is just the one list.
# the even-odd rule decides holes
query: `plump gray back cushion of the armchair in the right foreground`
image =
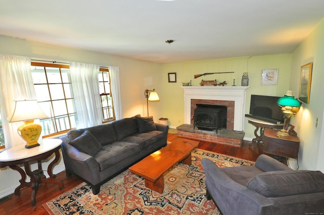
{"label": "plump gray back cushion of the armchair in the right foreground", "polygon": [[324,174],[311,170],[267,171],[252,178],[247,187],[265,197],[324,191]]}

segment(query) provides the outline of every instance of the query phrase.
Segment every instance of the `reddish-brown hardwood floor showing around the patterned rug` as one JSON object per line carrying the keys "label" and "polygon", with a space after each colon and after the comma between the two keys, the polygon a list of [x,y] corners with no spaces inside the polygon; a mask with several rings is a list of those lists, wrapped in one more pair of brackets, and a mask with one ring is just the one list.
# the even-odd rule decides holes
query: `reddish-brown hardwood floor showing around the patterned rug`
{"label": "reddish-brown hardwood floor showing around the patterned rug", "polygon": [[[168,141],[175,139],[177,135],[169,134]],[[208,151],[213,151],[220,154],[226,154],[233,157],[238,157],[242,159],[255,161],[257,157],[262,154],[262,145],[252,144],[251,142],[244,141],[241,147],[232,147],[223,144],[215,144],[201,141],[198,148]],[[21,190],[20,196],[15,196],[11,194],[10,199],[0,203],[0,215],[4,214],[48,214],[47,211],[42,206],[43,203],[51,200],[52,198],[72,189],[78,184],[82,183],[81,180],[75,176],[66,177],[65,171],[57,174],[57,179],[61,180],[64,183],[64,188],[59,190],[56,184],[42,184],[38,187],[36,193],[36,205],[31,206],[30,197],[31,190],[30,188],[25,188]]]}

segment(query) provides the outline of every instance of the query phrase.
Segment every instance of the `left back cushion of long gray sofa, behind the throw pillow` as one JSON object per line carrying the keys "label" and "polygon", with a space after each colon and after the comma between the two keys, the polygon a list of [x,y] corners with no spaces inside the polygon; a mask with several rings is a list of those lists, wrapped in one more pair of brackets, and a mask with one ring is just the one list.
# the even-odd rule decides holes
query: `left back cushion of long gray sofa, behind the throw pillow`
{"label": "left back cushion of long gray sofa, behind the throw pillow", "polygon": [[70,130],[67,133],[67,136],[70,140],[74,140],[75,138],[81,136],[85,131],[91,132],[91,134],[98,140],[98,142],[102,146],[117,140],[112,124],[102,124],[79,130]]}

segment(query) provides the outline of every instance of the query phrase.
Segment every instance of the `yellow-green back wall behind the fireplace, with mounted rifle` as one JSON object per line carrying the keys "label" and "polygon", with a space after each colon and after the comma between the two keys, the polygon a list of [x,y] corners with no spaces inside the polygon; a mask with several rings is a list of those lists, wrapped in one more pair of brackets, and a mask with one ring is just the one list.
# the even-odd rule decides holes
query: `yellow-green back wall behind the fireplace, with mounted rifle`
{"label": "yellow-green back wall behind the fireplace, with mounted rifle", "polygon": [[[214,59],[206,61],[193,61],[184,63],[172,63],[163,65],[163,89],[165,102],[163,103],[164,116],[169,118],[170,125],[177,127],[184,123],[184,97],[183,90],[179,87],[181,82],[189,82],[192,85],[199,85],[201,79],[227,81],[227,85],[241,85],[241,76],[244,72],[249,72],[249,86],[247,90],[246,113],[250,110],[250,98],[252,94],[268,96],[284,96],[289,90],[287,84],[290,79],[292,54],[252,56],[241,58]],[[262,85],[261,73],[263,69],[278,69],[278,81],[276,85]],[[194,79],[195,74],[210,72],[230,72],[226,74],[213,74],[201,76]],[[177,83],[168,82],[168,73],[177,73]],[[245,138],[254,138],[255,127],[245,122]]]}

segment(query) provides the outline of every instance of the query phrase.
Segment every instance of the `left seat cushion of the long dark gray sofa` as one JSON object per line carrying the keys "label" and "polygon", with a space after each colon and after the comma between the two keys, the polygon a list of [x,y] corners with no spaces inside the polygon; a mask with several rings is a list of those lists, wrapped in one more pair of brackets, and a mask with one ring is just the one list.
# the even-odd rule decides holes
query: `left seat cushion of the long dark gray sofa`
{"label": "left seat cushion of the long dark gray sofa", "polygon": [[139,153],[141,150],[138,144],[116,141],[105,145],[96,154],[95,159],[99,163],[100,171],[128,159],[130,156]]}

